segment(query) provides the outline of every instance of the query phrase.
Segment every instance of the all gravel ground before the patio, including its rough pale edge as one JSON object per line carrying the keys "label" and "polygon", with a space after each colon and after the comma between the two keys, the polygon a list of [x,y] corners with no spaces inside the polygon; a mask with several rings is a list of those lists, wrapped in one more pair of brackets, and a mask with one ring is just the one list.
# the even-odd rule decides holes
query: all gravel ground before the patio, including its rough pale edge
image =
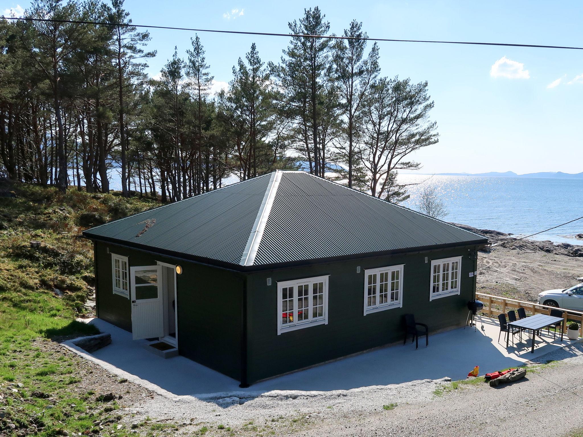
{"label": "all gravel ground before the patio, including its rough pale edge", "polygon": [[[556,360],[546,364],[549,360]],[[525,379],[491,388],[447,380],[332,392],[270,392],[206,401],[146,397],[126,407],[125,421],[175,424],[174,435],[206,436],[561,436],[583,428],[583,344],[543,355]],[[248,396],[248,393],[247,393]],[[385,406],[385,408],[383,408]],[[128,424],[129,425],[129,424]],[[223,428],[220,428],[222,425]],[[224,433],[225,428],[231,433]],[[143,428],[140,429],[142,431]]]}

